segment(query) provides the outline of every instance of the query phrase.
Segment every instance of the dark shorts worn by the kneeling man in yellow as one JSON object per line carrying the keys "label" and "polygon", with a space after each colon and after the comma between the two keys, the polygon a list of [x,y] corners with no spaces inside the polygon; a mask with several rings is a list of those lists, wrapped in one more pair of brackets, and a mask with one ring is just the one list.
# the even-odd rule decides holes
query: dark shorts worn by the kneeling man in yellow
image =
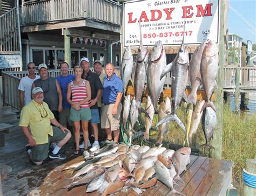
{"label": "dark shorts worn by the kneeling man in yellow", "polygon": [[53,136],[48,135],[49,142],[46,144],[38,144],[36,146],[31,147],[32,150],[32,160],[34,162],[42,162],[44,159],[48,157],[49,153],[49,144],[51,142],[59,142],[62,141],[64,137],[68,134],[60,130],[57,127],[52,127],[53,129]]}

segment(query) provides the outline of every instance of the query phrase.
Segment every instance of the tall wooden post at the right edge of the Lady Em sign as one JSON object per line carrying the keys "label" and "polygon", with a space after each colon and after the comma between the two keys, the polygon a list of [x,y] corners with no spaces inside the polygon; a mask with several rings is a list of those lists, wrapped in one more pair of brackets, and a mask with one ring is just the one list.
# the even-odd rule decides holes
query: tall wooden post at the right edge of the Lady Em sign
{"label": "tall wooden post at the right edge of the Lady Em sign", "polygon": [[210,150],[210,157],[221,159],[222,157],[222,136],[223,136],[223,67],[225,63],[225,40],[226,34],[225,26],[227,20],[224,16],[227,15],[225,11],[228,8],[228,1],[220,1],[220,43],[219,43],[219,73],[217,76],[217,88],[215,89],[216,95],[216,108],[217,108],[217,124],[213,132],[213,139],[210,141],[215,149]]}

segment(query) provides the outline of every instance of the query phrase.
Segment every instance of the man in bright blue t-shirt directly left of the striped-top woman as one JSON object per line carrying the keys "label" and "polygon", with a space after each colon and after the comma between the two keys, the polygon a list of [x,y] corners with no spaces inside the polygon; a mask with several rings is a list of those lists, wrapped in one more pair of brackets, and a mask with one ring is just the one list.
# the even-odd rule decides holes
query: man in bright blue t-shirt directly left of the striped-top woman
{"label": "man in bright blue t-shirt directly left of the striped-top woman", "polygon": [[70,104],[66,101],[66,94],[68,93],[69,83],[75,80],[75,75],[69,74],[69,64],[67,62],[62,62],[60,64],[60,72],[62,73],[56,79],[59,82],[60,87],[62,88],[62,106],[63,110],[59,113],[59,123],[64,127],[73,127],[73,122],[69,119],[70,114]]}

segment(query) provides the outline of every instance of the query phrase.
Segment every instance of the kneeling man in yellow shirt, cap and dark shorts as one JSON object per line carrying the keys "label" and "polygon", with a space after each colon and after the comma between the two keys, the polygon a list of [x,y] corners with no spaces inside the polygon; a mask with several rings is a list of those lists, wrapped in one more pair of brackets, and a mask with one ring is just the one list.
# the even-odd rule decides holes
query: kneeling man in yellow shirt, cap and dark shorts
{"label": "kneeling man in yellow shirt, cap and dark shorts", "polygon": [[[28,138],[29,145],[26,150],[36,165],[41,165],[48,157],[50,142],[58,142],[49,157],[52,159],[65,159],[59,153],[60,148],[71,137],[70,130],[63,127],[54,117],[48,104],[43,102],[44,93],[40,87],[33,88],[32,101],[21,111],[19,127]],[[51,123],[56,127],[52,127]]]}

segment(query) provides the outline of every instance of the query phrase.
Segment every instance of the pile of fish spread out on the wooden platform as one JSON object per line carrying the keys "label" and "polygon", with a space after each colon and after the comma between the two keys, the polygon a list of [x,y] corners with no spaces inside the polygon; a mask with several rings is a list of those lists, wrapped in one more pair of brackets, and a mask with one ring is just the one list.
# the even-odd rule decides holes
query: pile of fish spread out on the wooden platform
{"label": "pile of fish spread out on the wooden platform", "polygon": [[[85,160],[62,169],[72,170],[71,182],[65,189],[85,186],[86,192],[98,191],[102,195],[126,192],[130,187],[138,194],[150,188],[160,180],[170,188],[170,194],[180,194],[173,184],[184,181],[180,174],[190,163],[191,149],[180,148],[177,151],[158,146],[127,146],[111,144],[91,154],[84,153]],[[176,181],[174,181],[176,180]]]}

